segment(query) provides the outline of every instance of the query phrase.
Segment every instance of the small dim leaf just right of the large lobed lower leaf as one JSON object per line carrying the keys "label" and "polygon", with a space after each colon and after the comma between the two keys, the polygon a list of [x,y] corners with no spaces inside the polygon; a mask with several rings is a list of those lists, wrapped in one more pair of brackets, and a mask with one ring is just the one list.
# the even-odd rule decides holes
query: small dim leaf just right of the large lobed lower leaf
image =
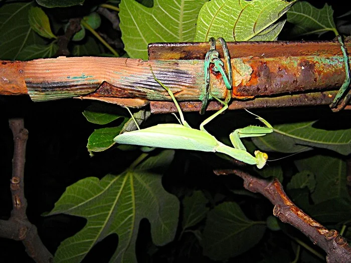
{"label": "small dim leaf just right of the large lobed lower leaf", "polygon": [[206,204],[209,200],[202,191],[195,191],[192,196],[186,196],[183,200],[183,229],[191,227],[199,223],[205,218],[209,208]]}

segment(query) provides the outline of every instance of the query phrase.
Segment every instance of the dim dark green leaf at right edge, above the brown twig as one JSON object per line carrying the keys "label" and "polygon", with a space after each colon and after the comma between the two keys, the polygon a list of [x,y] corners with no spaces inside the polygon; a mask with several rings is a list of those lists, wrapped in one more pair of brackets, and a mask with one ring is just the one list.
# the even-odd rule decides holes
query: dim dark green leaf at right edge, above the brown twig
{"label": "dim dark green leaf at right edge, above the brown twig", "polygon": [[314,203],[348,197],[346,163],[342,159],[316,155],[297,160],[295,164],[300,172],[309,171],[315,175],[316,186],[311,195]]}

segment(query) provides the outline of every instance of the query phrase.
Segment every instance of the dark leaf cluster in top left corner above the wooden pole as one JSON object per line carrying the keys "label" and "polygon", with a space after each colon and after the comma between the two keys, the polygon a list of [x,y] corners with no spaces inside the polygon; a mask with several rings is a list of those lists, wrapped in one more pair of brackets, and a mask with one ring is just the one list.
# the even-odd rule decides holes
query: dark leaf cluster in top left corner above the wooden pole
{"label": "dark leaf cluster in top left corner above the wooden pole", "polygon": [[[53,29],[61,34],[60,30],[66,31],[69,24],[64,20],[55,20],[55,11],[37,7],[33,2],[7,2],[0,6],[0,37],[6,40],[0,42],[0,59],[26,61],[57,56],[59,36],[53,32]],[[74,6],[83,2],[38,1],[38,4],[52,8]],[[101,25],[101,18],[95,12],[89,13],[82,19],[93,30]],[[72,45],[72,53],[76,56],[100,53],[96,41],[86,36],[84,27],[73,36],[72,40],[77,41],[77,44]]]}

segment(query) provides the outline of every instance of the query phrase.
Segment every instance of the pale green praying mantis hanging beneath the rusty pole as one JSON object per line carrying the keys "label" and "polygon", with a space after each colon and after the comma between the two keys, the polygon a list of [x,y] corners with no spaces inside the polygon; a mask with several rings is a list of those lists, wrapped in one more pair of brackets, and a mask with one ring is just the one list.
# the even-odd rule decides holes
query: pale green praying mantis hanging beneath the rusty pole
{"label": "pale green praying mantis hanging beneath the rusty pole", "polygon": [[204,128],[206,124],[208,124],[228,108],[228,104],[226,102],[223,102],[212,95],[212,97],[221,102],[224,107],[203,121],[200,124],[200,130],[193,129],[184,119],[183,112],[172,91],[156,78],[151,66],[150,70],[154,80],[168,92],[169,96],[177,107],[181,118],[181,120],[179,120],[180,124],[158,124],[146,129],[124,132],[117,135],[113,139],[114,142],[120,144],[133,144],[169,149],[220,152],[244,163],[256,165],[259,169],[264,167],[268,159],[268,155],[264,152],[260,152],[259,150],[255,151],[255,156],[251,155],[249,152],[247,152],[240,138],[264,136],[267,133],[273,132],[273,127],[265,119],[246,110],[250,114],[255,115],[258,120],[266,125],[266,127],[248,126],[235,130],[229,135],[234,148],[229,147],[218,141]]}

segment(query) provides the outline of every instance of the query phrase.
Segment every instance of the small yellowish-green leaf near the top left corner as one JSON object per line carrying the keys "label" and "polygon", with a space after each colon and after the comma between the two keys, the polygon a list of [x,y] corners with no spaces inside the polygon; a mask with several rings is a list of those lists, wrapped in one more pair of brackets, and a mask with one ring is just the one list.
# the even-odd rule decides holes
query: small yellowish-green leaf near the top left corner
{"label": "small yellowish-green leaf near the top left corner", "polygon": [[48,16],[41,8],[31,8],[28,14],[29,24],[31,28],[40,36],[48,39],[56,39],[52,33]]}

